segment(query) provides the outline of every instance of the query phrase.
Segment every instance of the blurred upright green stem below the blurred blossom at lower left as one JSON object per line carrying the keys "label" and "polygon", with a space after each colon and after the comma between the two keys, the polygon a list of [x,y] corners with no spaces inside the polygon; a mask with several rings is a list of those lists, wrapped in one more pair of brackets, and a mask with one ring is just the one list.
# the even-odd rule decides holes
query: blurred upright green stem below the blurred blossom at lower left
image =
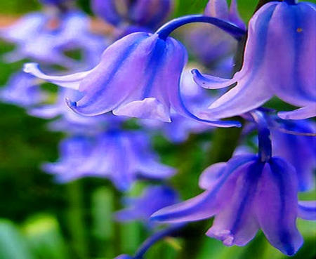
{"label": "blurred upright green stem below the blurred blossom at lower left", "polygon": [[88,258],[88,242],[86,239],[86,224],[84,223],[84,201],[80,180],[66,185],[69,202],[68,226],[71,240],[78,258]]}

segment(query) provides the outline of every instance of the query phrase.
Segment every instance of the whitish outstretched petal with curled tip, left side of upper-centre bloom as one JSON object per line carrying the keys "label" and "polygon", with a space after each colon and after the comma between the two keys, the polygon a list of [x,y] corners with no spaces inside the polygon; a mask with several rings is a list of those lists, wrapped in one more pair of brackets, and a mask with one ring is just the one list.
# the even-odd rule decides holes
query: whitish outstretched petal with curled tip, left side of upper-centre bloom
{"label": "whitish outstretched petal with curled tip, left side of upper-centre bloom", "polygon": [[27,63],[24,66],[24,72],[34,75],[35,77],[39,77],[40,79],[45,79],[50,81],[53,84],[57,84],[58,86],[72,88],[74,90],[79,89],[79,84],[81,81],[91,73],[90,71],[79,72],[76,74],[70,74],[67,76],[48,76],[41,72],[39,69],[39,65],[37,63]]}

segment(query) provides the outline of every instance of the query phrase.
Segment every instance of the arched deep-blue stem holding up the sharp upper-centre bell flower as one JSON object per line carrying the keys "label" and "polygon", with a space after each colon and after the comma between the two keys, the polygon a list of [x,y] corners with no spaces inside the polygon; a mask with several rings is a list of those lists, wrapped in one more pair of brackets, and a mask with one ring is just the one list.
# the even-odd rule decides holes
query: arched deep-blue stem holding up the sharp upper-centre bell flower
{"label": "arched deep-blue stem holding up the sharp upper-centre bell flower", "polygon": [[186,15],[180,18],[176,18],[167,22],[165,25],[162,25],[157,31],[156,34],[159,35],[160,39],[166,40],[166,38],[178,27],[183,25],[187,25],[192,22],[205,22],[211,25],[215,25],[216,27],[223,29],[223,31],[228,32],[230,35],[235,37],[235,39],[239,40],[246,32],[244,29],[239,28],[237,25],[234,25],[225,20],[220,20],[218,18],[213,18],[205,15]]}

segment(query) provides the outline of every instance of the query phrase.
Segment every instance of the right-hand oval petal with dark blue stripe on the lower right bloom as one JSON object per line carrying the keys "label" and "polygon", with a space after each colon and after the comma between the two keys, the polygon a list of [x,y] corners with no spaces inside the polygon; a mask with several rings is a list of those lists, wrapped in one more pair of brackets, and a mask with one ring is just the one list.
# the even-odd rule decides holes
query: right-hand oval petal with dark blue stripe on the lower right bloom
{"label": "right-hand oval petal with dark blue stripe on the lower right bloom", "polygon": [[272,246],[294,255],[303,244],[296,228],[297,179],[293,167],[274,157],[265,166],[256,194],[258,223]]}

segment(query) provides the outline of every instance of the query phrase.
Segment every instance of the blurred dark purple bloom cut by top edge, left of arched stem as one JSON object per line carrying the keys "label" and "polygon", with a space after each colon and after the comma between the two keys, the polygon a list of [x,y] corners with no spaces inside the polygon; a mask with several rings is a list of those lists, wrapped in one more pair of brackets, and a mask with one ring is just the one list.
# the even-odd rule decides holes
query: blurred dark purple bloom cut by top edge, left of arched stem
{"label": "blurred dark purple bloom cut by top edge, left of arched stem", "polygon": [[157,29],[173,9],[173,0],[93,0],[93,12],[120,27],[124,23]]}

